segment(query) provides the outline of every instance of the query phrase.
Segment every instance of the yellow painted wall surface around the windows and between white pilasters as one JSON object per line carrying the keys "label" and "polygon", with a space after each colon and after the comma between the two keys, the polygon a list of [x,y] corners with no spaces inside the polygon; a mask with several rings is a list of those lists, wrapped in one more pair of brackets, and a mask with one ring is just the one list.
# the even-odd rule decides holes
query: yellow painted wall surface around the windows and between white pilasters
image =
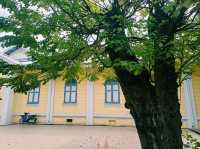
{"label": "yellow painted wall surface around the windows and between white pilasters", "polygon": [[[197,117],[200,117],[200,73],[194,73],[192,76],[193,91],[195,98],[195,105],[197,110]],[[64,103],[64,80],[57,79],[55,81],[55,96],[54,96],[54,108],[53,108],[53,122],[55,124],[68,124],[67,118],[70,116],[63,115],[86,115],[87,106],[87,80],[83,80],[78,84],[77,89],[77,103],[69,104]],[[0,97],[2,96],[2,90],[0,90]],[[184,87],[179,89],[180,97],[180,110],[184,118],[187,117],[185,99],[184,99]],[[27,104],[28,95],[15,94],[13,103],[13,122],[19,121],[19,115],[23,112],[30,112],[39,114],[39,122],[46,123],[46,111],[48,101],[48,85],[42,85],[40,88],[39,104]],[[114,115],[125,116],[129,115],[129,111],[124,107],[125,99],[122,91],[120,91],[120,104],[106,104],[105,103],[105,87],[104,79],[99,79],[94,82],[94,115],[100,115],[100,117],[94,117],[94,125],[114,125],[114,126],[132,126],[132,119],[128,118],[103,118],[101,115]],[[0,111],[2,101],[0,100]],[[86,117],[71,117],[73,118],[72,124],[86,124]],[[183,122],[183,127],[186,127],[187,121]],[[200,125],[200,124],[199,124]]]}

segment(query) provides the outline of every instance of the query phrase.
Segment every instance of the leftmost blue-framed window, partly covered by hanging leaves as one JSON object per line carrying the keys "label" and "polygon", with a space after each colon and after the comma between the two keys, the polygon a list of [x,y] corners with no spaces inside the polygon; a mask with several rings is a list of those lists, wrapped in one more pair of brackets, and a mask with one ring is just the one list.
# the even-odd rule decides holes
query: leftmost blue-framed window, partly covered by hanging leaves
{"label": "leftmost blue-framed window, partly covered by hanging leaves", "polygon": [[40,87],[28,92],[28,104],[39,104]]}

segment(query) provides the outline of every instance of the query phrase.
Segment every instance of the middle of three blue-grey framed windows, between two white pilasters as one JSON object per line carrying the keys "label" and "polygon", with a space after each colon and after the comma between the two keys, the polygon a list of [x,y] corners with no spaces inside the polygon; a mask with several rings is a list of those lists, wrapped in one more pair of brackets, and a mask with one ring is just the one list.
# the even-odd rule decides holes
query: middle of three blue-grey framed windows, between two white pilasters
{"label": "middle of three blue-grey framed windows, between two white pilasters", "polygon": [[64,103],[76,103],[77,101],[77,81],[71,80],[65,83]]}

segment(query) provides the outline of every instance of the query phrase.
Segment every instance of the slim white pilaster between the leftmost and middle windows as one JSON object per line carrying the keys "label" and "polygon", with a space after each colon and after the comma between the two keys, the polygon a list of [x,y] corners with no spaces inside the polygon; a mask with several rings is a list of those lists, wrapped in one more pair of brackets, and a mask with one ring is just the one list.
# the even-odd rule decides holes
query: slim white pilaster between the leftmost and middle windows
{"label": "slim white pilaster between the leftmost and middle windows", "polygon": [[48,83],[48,101],[47,101],[48,124],[53,123],[54,95],[55,95],[55,80],[50,80]]}

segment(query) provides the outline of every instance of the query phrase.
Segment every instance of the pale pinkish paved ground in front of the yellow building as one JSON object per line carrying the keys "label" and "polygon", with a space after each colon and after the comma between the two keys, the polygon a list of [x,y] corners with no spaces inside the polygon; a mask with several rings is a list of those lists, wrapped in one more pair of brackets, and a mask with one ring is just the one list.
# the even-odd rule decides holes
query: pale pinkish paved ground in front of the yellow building
{"label": "pale pinkish paved ground in front of the yellow building", "polygon": [[135,128],[0,126],[0,149],[140,149]]}

